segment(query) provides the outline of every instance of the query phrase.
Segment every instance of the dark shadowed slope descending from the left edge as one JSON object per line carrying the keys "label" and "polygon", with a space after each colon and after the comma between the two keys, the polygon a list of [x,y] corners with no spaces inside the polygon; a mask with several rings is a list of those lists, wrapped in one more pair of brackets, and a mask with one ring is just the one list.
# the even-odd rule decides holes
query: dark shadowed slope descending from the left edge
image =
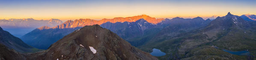
{"label": "dark shadowed slope descending from the left edge", "polygon": [[9,49],[14,49],[18,52],[23,52],[23,53],[40,51],[39,49],[36,49],[32,46],[25,44],[23,41],[21,41],[20,38],[17,38],[11,35],[9,32],[4,31],[1,27],[0,27],[0,44],[3,44]]}

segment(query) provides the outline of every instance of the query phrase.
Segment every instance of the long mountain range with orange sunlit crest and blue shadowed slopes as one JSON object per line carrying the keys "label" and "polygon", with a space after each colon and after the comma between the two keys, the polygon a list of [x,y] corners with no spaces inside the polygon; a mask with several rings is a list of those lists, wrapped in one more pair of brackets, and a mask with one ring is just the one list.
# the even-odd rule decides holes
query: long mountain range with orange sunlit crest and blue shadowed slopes
{"label": "long mountain range with orange sunlit crest and blue shadowed slopes", "polygon": [[[201,27],[202,24],[203,24],[202,26],[204,26],[205,24],[208,24],[208,22],[210,22],[210,20],[204,20],[201,17],[196,17],[194,19],[181,18],[176,20],[177,21],[170,20],[169,22],[169,19],[164,19],[164,20],[155,19],[146,15],[126,17],[126,18],[120,17],[120,18],[114,18],[114,19],[102,19],[99,21],[92,20],[92,19],[79,19],[75,21],[69,20],[56,27],[45,27],[45,26],[39,27],[33,30],[32,32],[22,36],[21,39],[25,43],[33,47],[36,47],[39,49],[48,49],[48,47],[51,44],[53,44],[60,38],[63,38],[65,35],[68,35],[74,30],[77,30],[85,25],[101,24],[101,27],[104,27],[113,31],[120,37],[131,42],[132,45],[139,46],[137,44],[141,44],[141,43],[143,44],[144,42],[149,40],[147,38],[142,38],[144,37],[144,35],[148,35],[147,37],[150,37],[149,35],[158,33],[158,31],[160,31],[162,28],[170,24],[173,24],[176,22],[183,23],[183,24],[187,24],[188,22],[194,22],[193,24],[195,24],[198,27]],[[105,23],[101,23],[101,22],[105,22]],[[158,24],[153,24],[156,22]],[[154,33],[151,33],[150,31]],[[139,38],[140,40],[137,40],[136,38]],[[137,43],[132,43],[132,42],[137,42]]]}

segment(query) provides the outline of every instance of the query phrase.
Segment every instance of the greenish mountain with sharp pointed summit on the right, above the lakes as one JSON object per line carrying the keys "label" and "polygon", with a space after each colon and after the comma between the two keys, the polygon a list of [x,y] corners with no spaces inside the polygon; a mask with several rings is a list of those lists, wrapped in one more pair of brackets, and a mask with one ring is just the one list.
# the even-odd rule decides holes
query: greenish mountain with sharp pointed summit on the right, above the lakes
{"label": "greenish mountain with sharp pointed summit on the right, above the lakes", "polygon": [[255,24],[256,22],[250,22],[228,13],[226,16],[217,17],[205,27],[174,36],[160,36],[138,48],[147,52],[153,48],[161,49],[167,53],[160,57],[161,60],[207,60],[209,58],[251,60],[255,53],[247,57],[232,55],[214,46],[231,51],[250,50],[254,52],[256,50]]}

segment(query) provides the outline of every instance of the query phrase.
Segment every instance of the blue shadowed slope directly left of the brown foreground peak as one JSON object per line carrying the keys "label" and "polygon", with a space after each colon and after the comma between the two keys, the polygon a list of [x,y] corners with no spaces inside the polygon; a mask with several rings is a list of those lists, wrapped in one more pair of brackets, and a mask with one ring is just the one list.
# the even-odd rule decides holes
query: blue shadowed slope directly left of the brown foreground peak
{"label": "blue shadowed slope directly left of the brown foreground peak", "polygon": [[48,49],[48,47],[55,43],[56,41],[63,38],[65,35],[72,33],[74,30],[80,29],[76,28],[65,28],[65,29],[47,29],[50,27],[44,26],[39,27],[30,33],[22,36],[21,39],[30,46],[36,47],[38,49]]}

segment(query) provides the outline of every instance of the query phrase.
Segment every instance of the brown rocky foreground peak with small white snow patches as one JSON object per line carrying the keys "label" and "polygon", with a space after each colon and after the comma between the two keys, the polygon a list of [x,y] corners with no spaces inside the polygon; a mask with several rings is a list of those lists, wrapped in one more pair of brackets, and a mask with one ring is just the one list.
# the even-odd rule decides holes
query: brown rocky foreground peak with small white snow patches
{"label": "brown rocky foreground peak with small white snow patches", "polygon": [[49,49],[26,57],[28,60],[158,60],[99,25],[75,30]]}

